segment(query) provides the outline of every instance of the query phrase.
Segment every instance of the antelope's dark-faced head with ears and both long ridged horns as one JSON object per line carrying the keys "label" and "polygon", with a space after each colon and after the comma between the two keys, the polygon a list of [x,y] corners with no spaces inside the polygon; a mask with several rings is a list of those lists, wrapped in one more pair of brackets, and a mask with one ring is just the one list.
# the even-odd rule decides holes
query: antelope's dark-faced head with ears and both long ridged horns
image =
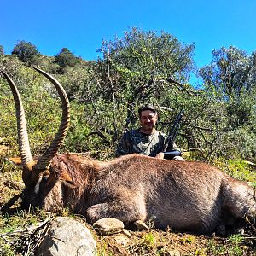
{"label": "antelope's dark-faced head with ears and both long ridged horns", "polygon": [[[9,77],[9,75],[4,71],[2,71],[2,73],[4,78],[7,79],[9,83],[15,100],[18,142],[20,150],[19,158],[9,158],[8,160],[11,163],[15,164],[15,166],[20,166],[23,170],[22,179],[26,187],[24,190],[24,196],[26,198],[23,199],[23,202],[25,202],[25,204],[27,202],[27,204],[42,207],[40,205],[40,200],[38,199],[40,199],[40,197],[43,198],[45,195],[37,195],[39,189],[41,191],[41,194],[49,193],[50,189],[55,186],[57,179],[60,177],[64,177],[67,182],[72,182],[71,178],[68,176],[67,173],[61,173],[60,175],[60,173],[55,172],[55,168],[51,166],[55,154],[57,153],[65,137],[67,136],[68,127],[70,124],[70,106],[67,94],[62,88],[61,84],[51,75],[49,75],[49,73],[46,73],[37,67],[34,67],[34,69],[37,70],[39,73],[43,74],[47,79],[49,79],[52,84],[54,84],[59,96],[61,97],[62,108],[62,117],[59,130],[56,132],[55,138],[50,143],[49,148],[44,152],[42,156],[38,158],[38,160],[34,160],[32,158],[28,134],[26,130],[25,111],[22,105],[19,90],[17,89],[14,81]],[[43,189],[41,188],[42,186],[44,186]],[[24,205],[24,207],[28,206]]]}

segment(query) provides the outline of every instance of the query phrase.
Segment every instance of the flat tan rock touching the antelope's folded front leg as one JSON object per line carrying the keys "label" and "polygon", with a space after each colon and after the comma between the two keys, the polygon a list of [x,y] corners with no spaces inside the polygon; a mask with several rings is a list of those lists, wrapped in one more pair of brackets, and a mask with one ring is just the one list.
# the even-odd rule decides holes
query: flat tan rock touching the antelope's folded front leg
{"label": "flat tan rock touching the antelope's folded front leg", "polygon": [[125,225],[117,218],[101,218],[93,224],[93,228],[102,236],[121,232]]}

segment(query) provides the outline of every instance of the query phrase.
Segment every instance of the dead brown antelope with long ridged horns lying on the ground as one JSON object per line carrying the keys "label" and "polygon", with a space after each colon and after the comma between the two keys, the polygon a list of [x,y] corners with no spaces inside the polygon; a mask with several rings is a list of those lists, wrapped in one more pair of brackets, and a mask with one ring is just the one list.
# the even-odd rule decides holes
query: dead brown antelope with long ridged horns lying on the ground
{"label": "dead brown antelope with long ridged horns lying on the ground", "polygon": [[32,205],[50,212],[70,207],[90,223],[106,217],[125,223],[153,219],[157,228],[170,226],[197,233],[212,233],[219,225],[255,217],[253,188],[214,166],[138,154],[106,162],[57,154],[70,123],[69,103],[61,84],[36,70],[55,85],[62,102],[59,130],[38,160],[30,151],[19,91],[2,72],[15,99],[21,160],[10,160],[23,168],[24,207]]}

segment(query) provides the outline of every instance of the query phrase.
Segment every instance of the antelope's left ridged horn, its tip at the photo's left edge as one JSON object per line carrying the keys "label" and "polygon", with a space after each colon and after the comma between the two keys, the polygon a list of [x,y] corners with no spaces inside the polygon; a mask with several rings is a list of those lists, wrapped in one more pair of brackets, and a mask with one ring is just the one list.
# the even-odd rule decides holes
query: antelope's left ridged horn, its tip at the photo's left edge
{"label": "antelope's left ridged horn, its tip at the photo's left edge", "polygon": [[31,168],[32,168],[31,165],[33,163],[33,159],[30,151],[28,135],[26,131],[25,111],[20,98],[20,93],[14,81],[9,77],[9,75],[5,73],[3,70],[2,70],[2,73],[5,79],[7,79],[9,83],[9,86],[12,90],[14,100],[15,100],[18,140],[19,140],[20,157],[22,161],[22,166],[25,167],[26,170],[31,171]]}

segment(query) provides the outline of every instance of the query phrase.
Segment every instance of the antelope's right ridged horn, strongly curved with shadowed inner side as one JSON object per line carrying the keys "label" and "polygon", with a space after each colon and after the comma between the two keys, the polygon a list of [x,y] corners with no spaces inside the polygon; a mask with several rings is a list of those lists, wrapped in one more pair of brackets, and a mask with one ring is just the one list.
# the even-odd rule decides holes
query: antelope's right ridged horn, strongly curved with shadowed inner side
{"label": "antelope's right ridged horn, strongly curved with shadowed inner side", "polygon": [[44,72],[38,67],[34,67],[39,73],[42,73],[49,81],[55,85],[56,90],[58,91],[59,96],[61,97],[61,108],[62,108],[62,117],[61,117],[61,125],[59,126],[59,130],[55,134],[55,138],[53,142],[49,145],[49,148],[45,151],[45,153],[39,158],[38,163],[35,166],[35,169],[38,171],[43,171],[47,168],[57,153],[58,149],[61,147],[65,137],[67,136],[68,127],[70,125],[70,106],[67,98],[66,91],[63,89],[61,84],[53,78],[49,73]]}

